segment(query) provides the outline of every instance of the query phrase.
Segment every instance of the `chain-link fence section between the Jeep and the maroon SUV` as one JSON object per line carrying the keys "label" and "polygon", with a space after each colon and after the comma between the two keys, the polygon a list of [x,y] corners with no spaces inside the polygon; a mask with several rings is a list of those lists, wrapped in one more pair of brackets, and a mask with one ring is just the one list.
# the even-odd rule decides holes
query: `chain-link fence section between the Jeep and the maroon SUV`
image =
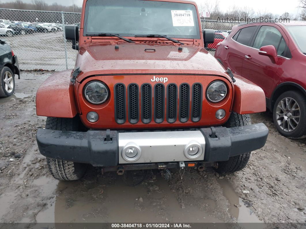
{"label": "chain-link fence section between the Jeep and the maroon SUV", "polygon": [[215,42],[208,44],[208,51],[211,54],[215,53],[217,44],[223,41],[230,33],[234,25],[238,25],[236,22],[222,22],[216,20],[201,20],[202,29],[215,30]]}

